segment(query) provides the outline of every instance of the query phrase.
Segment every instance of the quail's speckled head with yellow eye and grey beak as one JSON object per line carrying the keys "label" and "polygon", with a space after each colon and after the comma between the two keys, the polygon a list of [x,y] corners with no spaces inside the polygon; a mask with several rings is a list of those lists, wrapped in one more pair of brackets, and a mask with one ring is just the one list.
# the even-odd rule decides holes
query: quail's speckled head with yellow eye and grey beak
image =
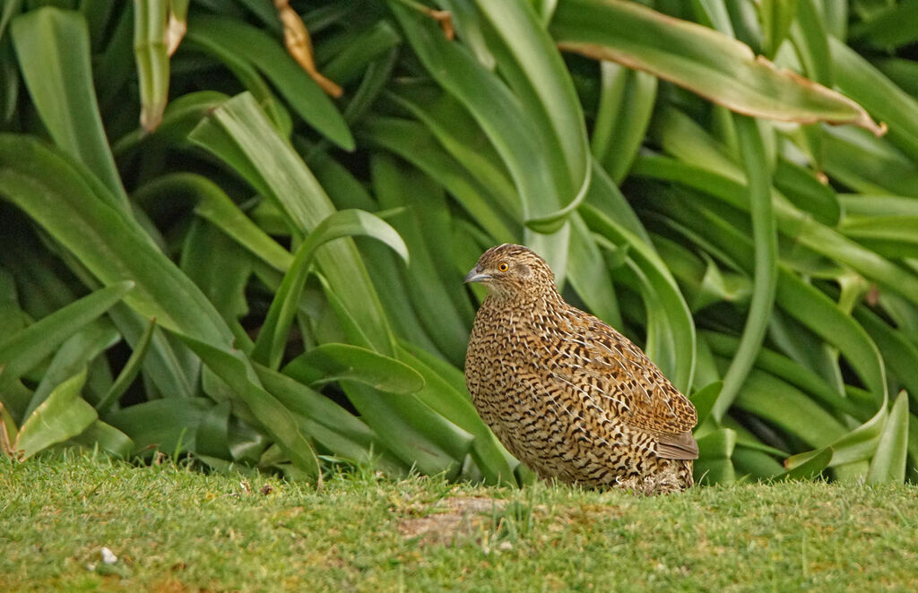
{"label": "quail's speckled head with yellow eye and grey beak", "polygon": [[465,282],[478,282],[500,297],[554,291],[554,274],[541,257],[522,245],[504,243],[482,253]]}

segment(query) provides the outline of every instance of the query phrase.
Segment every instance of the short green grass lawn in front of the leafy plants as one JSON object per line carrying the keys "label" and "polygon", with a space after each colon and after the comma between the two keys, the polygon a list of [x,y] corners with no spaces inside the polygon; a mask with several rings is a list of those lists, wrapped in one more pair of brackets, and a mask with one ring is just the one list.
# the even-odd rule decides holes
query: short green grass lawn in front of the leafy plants
{"label": "short green grass lawn in front of the leafy plants", "polygon": [[[102,561],[102,548],[118,556]],[[0,590],[918,590],[918,488],[637,498],[0,460]]]}

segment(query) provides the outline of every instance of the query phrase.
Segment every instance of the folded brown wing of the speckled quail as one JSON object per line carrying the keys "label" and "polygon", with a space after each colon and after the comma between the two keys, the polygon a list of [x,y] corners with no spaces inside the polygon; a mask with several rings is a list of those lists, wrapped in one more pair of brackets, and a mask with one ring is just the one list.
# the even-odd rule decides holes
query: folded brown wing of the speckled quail
{"label": "folded brown wing of the speckled quail", "polygon": [[[688,397],[663,375],[641,349],[609,325],[584,314],[577,320],[577,340],[566,352],[572,379],[590,386],[596,402],[620,420],[655,433],[665,451],[677,458],[697,456],[691,429],[698,421]],[[679,454],[671,451],[672,456]],[[667,455],[670,456],[670,455]]]}

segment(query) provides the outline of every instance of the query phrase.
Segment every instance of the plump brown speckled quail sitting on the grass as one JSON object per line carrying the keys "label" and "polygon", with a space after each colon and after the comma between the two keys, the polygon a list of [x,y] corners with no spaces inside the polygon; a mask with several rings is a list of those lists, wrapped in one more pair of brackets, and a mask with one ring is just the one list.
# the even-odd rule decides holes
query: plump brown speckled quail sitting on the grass
{"label": "plump brown speckled quail sitting on the grass", "polygon": [[633,341],[565,302],[542,257],[492,247],[469,283],[487,297],[465,385],[509,453],[548,481],[648,495],[693,485],[695,407]]}

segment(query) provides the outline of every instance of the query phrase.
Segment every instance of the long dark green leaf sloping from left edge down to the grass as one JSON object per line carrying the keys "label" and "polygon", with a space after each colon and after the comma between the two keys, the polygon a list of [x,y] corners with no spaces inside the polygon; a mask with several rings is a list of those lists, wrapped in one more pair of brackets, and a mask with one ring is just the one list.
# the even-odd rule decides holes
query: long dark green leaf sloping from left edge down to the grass
{"label": "long dark green leaf sloping from left edge down to the grass", "polygon": [[[0,194],[34,218],[106,285],[136,283],[125,297],[131,308],[155,317],[195,347],[199,356],[232,386],[291,461],[319,478],[315,453],[290,427],[285,408],[258,383],[247,360],[232,352],[232,332],[197,286],[132,218],[110,206],[87,183],[93,178],[39,140],[0,136]],[[198,352],[200,351],[200,352]],[[282,431],[292,430],[287,433]]]}

